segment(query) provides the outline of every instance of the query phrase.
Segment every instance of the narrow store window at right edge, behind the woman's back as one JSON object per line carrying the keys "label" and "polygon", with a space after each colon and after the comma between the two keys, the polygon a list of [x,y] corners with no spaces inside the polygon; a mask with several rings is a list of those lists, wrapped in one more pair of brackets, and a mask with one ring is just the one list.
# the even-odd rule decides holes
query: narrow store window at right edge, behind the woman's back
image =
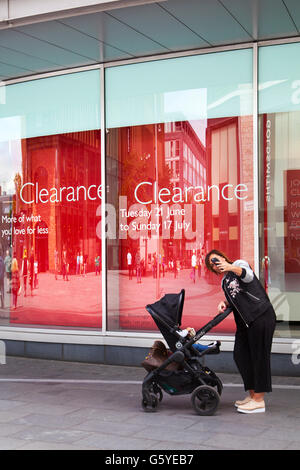
{"label": "narrow store window at right edge, behind the woman's back", "polygon": [[300,334],[300,44],[259,49],[260,268],[276,335]]}

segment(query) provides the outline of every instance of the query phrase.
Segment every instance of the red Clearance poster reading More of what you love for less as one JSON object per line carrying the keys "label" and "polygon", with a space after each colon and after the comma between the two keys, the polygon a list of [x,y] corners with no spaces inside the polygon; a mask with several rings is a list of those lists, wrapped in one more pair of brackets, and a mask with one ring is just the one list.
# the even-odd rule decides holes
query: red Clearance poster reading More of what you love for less
{"label": "red Clearance poster reading More of what you love for less", "polygon": [[3,310],[15,324],[101,328],[100,131],[26,139],[18,158],[1,214]]}

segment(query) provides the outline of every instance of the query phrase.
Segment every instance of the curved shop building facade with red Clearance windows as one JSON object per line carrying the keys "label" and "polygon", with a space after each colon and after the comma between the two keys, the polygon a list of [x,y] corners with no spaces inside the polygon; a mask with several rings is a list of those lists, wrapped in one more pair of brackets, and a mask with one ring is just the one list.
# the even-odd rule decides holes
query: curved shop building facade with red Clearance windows
{"label": "curved shop building facade with red Clearance windows", "polygon": [[[148,303],[184,288],[182,326],[216,315],[220,279],[204,257],[217,248],[259,276],[277,315],[274,371],[299,375],[293,2],[284,15],[275,2],[278,30],[250,0],[21,3],[0,10],[8,354],[139,364],[160,337]],[[222,341],[221,370],[234,370],[234,334],[229,316],[204,338]]]}

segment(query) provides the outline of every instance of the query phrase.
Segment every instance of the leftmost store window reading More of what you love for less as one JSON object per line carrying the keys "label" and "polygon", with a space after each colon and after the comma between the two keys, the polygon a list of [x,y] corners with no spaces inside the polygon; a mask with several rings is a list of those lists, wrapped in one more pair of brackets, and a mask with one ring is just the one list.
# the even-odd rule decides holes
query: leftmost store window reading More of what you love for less
{"label": "leftmost store window reading More of what you love for less", "polygon": [[100,329],[99,71],[1,90],[1,322]]}

